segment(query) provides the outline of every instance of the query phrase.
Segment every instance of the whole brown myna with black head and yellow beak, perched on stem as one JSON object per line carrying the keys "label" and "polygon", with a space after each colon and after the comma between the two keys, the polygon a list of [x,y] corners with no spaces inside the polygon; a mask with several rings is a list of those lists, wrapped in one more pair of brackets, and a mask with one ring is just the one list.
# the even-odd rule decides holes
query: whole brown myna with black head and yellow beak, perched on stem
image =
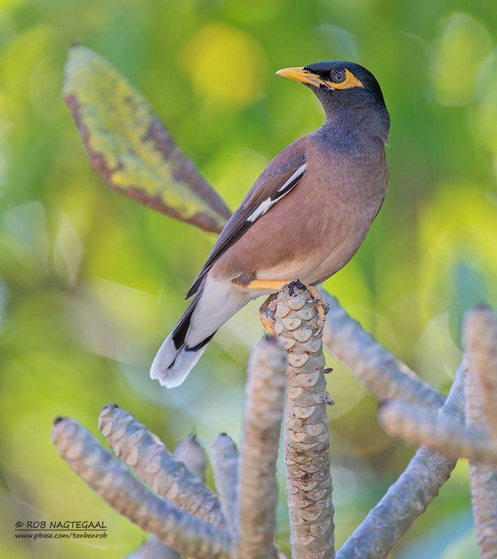
{"label": "whole brown myna with black head and yellow beak, perched on stem", "polygon": [[248,301],[295,279],[317,286],[343,268],[383,204],[390,115],[374,75],[347,61],[276,74],[309,87],[325,122],[274,157],[225,224],[151,365],[151,378],[168,388]]}

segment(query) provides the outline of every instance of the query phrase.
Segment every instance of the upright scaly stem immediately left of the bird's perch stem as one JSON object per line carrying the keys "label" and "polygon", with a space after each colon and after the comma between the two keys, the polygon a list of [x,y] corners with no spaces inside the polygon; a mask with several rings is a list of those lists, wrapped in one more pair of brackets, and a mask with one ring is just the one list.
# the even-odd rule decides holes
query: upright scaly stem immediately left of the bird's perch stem
{"label": "upright scaly stem immediately left of the bird's perch stem", "polygon": [[262,340],[248,363],[244,427],[238,467],[237,559],[276,558],[276,460],[286,354],[276,338]]}

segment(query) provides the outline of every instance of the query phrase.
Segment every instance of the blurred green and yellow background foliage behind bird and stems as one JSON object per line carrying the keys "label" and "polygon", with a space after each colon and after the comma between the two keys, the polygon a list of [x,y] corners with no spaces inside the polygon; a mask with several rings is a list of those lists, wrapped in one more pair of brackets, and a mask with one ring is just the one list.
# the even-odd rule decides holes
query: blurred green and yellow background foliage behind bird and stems
{"label": "blurred green and yellow background foliage behind bird and stems", "polygon": [[[459,364],[461,315],[497,306],[497,4],[421,0],[0,0],[0,548],[17,558],[121,558],[144,533],[71,472],[55,416],[96,432],[117,402],[168,446],[195,426],[239,439],[257,303],[219,331],[171,391],[148,368],[215,236],[105,187],[61,101],[72,41],[154,105],[230,208],[272,157],[322,123],[311,92],[274,72],[364,64],[392,115],[390,188],[353,261],[327,282],[353,317],[436,389]],[[339,364],[329,377],[341,544],[413,449]],[[283,467],[280,468],[283,471]],[[281,544],[288,549],[281,477]],[[101,520],[103,542],[21,542],[16,521]],[[459,463],[394,558],[476,557]]]}

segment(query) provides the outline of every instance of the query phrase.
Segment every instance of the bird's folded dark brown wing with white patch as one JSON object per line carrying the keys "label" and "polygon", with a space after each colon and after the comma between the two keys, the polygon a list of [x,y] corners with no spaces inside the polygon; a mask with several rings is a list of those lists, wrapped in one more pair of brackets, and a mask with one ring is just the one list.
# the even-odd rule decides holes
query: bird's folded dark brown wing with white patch
{"label": "bird's folded dark brown wing with white patch", "polygon": [[306,138],[300,138],[285,147],[262,171],[237,211],[221,231],[216,244],[212,247],[211,254],[186,294],[187,299],[198,291],[202,279],[219,256],[237,242],[248,228],[288,194],[304,176],[306,170],[305,140]]}

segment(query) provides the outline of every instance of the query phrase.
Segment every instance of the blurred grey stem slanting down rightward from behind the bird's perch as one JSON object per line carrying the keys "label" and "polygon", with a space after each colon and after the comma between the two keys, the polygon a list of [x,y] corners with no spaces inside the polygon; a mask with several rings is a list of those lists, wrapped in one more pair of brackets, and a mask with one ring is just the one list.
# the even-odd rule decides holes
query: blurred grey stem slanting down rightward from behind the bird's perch
{"label": "blurred grey stem slanting down rightward from behind the bird's perch", "polygon": [[443,404],[440,393],[424,384],[407,365],[397,361],[347,314],[335,297],[323,289],[320,293],[329,303],[322,340],[367,389],[380,400],[402,398],[434,409]]}

